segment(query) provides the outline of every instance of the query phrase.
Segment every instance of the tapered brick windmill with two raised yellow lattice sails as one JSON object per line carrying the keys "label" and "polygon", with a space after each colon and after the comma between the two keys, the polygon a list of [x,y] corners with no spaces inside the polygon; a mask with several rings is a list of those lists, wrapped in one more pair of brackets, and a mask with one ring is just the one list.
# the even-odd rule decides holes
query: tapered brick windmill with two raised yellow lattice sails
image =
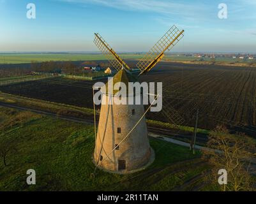
{"label": "tapered brick windmill with two raised yellow lattice sails", "polygon": [[[173,25],[137,63],[138,76],[132,75],[132,69],[103,40],[100,34],[95,33],[94,43],[117,71],[107,84],[123,82],[128,87],[129,82],[137,82],[140,75],[147,73],[161,61],[165,51],[169,51],[183,38],[183,33],[184,31],[179,31]],[[98,133],[95,133],[94,163],[96,168],[129,173],[144,168],[154,160],[154,151],[149,145],[145,119],[149,109],[145,112],[142,103],[140,105],[110,103],[114,97],[117,97],[115,94],[116,92],[108,90],[102,92],[102,100],[107,103],[102,104],[100,109]],[[125,99],[128,100],[134,96],[142,98],[142,93],[127,90]]]}

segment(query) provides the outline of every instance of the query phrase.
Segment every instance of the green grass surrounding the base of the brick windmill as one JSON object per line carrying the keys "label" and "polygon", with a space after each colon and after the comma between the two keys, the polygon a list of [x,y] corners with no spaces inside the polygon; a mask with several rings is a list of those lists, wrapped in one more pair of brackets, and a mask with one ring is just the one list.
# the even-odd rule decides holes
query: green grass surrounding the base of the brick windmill
{"label": "green grass surrounding the base of the brick windmill", "polygon": [[[192,189],[187,181],[207,170],[199,152],[150,139],[156,159],[146,170],[117,175],[97,170],[92,155],[93,126],[0,107],[0,142],[16,152],[0,158],[0,191],[170,191]],[[36,171],[36,185],[26,184],[26,171]],[[203,184],[204,180],[198,180]]]}

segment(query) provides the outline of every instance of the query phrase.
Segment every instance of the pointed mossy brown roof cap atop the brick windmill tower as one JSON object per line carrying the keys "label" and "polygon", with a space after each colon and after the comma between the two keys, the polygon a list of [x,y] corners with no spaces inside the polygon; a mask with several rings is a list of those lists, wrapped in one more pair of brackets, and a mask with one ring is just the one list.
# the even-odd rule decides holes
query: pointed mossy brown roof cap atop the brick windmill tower
{"label": "pointed mossy brown roof cap atop the brick windmill tower", "polygon": [[[133,76],[131,73],[128,73],[128,71],[126,71],[125,69],[121,69],[120,71],[118,71],[111,80],[113,82],[113,86],[118,82],[123,82],[126,85],[126,93],[128,93],[129,91],[129,82],[138,82],[137,77]],[[108,92],[108,84],[109,82],[106,83],[106,92]],[[113,94],[116,94],[117,92],[118,90],[113,90]]]}

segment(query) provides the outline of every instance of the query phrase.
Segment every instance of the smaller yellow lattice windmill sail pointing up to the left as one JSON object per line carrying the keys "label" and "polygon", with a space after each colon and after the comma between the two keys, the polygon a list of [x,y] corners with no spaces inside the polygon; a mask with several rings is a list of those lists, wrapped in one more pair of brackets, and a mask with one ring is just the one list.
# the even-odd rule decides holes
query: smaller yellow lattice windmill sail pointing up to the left
{"label": "smaller yellow lattice windmill sail pointing up to the left", "polygon": [[98,33],[94,33],[94,43],[99,48],[100,51],[102,51],[102,54],[105,55],[107,60],[110,62],[113,68],[116,69],[116,71],[119,71],[124,68],[130,69],[129,66],[119,57],[119,55],[116,54],[116,52],[109,46],[109,44],[100,36]]}

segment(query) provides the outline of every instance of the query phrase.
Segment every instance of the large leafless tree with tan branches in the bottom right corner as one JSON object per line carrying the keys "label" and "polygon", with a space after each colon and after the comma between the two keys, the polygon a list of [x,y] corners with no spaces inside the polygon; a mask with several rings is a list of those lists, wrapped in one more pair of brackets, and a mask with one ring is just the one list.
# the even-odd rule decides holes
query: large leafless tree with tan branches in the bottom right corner
{"label": "large leafless tree with tan branches in the bottom right corner", "polygon": [[213,166],[210,180],[218,185],[218,170],[227,171],[227,185],[223,191],[252,191],[253,180],[250,175],[250,164],[255,157],[255,142],[248,136],[230,135],[223,126],[217,126],[209,135],[203,156]]}

